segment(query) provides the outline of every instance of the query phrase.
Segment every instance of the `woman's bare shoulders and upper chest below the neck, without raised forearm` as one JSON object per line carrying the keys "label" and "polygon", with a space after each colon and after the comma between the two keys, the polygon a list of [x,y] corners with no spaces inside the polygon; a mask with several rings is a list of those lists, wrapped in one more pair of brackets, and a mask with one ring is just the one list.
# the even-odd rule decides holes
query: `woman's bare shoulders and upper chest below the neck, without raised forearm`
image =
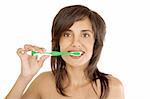
{"label": "woman's bare shoulders and upper chest below the neck, without raised forearm", "polygon": [[[107,99],[124,99],[121,82],[112,76],[110,76],[110,82],[110,93]],[[38,87],[36,87],[37,85]],[[98,87],[100,87],[99,83]],[[95,86],[96,92],[100,94],[98,87]],[[35,94],[33,93],[39,94],[34,96]],[[89,83],[78,87],[70,86],[67,90],[67,94],[71,95],[71,97],[64,97],[58,94],[53,74],[51,72],[45,72],[35,79],[22,99],[99,99],[99,96],[94,93]],[[40,98],[35,98],[38,96],[40,96]]]}

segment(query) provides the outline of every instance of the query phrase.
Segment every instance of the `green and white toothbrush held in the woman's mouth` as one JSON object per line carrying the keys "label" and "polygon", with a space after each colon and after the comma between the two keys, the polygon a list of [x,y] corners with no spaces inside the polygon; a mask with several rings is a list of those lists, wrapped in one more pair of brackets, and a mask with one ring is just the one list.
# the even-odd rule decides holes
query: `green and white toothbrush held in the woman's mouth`
{"label": "green and white toothbrush held in the woman's mouth", "polygon": [[[31,51],[31,55],[39,55],[39,52]],[[80,56],[81,52],[59,52],[59,51],[52,51],[52,52],[44,52],[42,55],[51,55],[51,56],[61,56],[61,55],[73,55],[73,56]]]}

